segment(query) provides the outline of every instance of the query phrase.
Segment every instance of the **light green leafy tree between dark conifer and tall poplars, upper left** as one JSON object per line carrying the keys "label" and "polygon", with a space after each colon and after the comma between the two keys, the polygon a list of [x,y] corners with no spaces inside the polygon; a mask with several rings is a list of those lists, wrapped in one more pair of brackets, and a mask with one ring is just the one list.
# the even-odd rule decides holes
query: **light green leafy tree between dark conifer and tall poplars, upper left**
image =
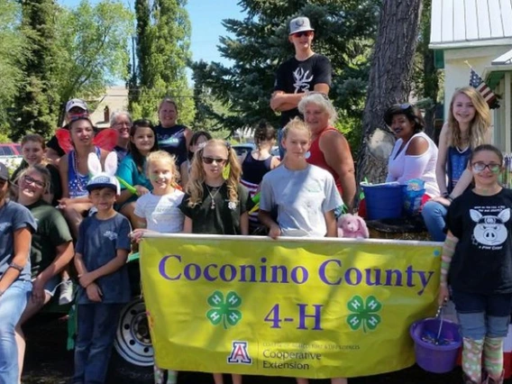
{"label": "light green leafy tree between dark conifer and tall poplars, upper left", "polygon": [[57,85],[62,106],[72,97],[92,98],[114,79],[128,78],[128,37],[133,14],[121,2],[88,0],[59,10]]}

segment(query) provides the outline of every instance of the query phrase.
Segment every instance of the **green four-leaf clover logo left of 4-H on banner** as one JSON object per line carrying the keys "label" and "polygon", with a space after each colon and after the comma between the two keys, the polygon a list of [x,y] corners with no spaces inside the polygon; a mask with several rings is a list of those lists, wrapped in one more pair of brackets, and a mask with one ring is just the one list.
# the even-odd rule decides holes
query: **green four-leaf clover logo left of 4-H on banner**
{"label": "green four-leaf clover logo left of 4-H on banner", "polygon": [[235,309],[242,304],[242,297],[238,296],[236,292],[228,292],[224,299],[224,294],[216,290],[208,297],[207,301],[208,305],[214,308],[206,312],[206,318],[213,325],[219,325],[222,322],[224,329],[227,329],[228,325],[236,325],[242,320],[242,312]]}

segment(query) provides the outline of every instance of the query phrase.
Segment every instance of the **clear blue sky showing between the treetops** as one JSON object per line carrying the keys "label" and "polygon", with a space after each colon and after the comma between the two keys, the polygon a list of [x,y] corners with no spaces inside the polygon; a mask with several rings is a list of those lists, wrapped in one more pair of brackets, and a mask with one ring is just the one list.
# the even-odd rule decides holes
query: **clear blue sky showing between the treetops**
{"label": "clear blue sky showing between the treetops", "polygon": [[[73,7],[78,5],[79,0],[58,0],[59,4]],[[92,4],[97,0],[89,0]],[[132,4],[134,0],[124,0]],[[187,11],[190,23],[192,24],[192,36],[190,49],[195,60],[221,61],[228,64],[227,60],[221,58],[216,45],[219,43],[219,36],[227,35],[223,25],[223,19],[242,19],[242,8],[237,5],[238,0],[188,0]],[[229,65],[229,64],[228,64]]]}

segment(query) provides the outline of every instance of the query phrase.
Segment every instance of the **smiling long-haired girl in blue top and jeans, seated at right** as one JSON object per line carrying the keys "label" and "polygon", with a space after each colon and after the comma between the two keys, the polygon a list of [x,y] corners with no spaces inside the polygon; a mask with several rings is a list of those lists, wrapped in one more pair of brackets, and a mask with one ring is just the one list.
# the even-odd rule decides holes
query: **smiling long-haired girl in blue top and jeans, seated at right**
{"label": "smiling long-haired girl in blue top and jeans, seated at right", "polygon": [[473,87],[455,92],[450,103],[448,122],[439,135],[439,151],[435,177],[440,196],[423,207],[426,228],[435,242],[443,242],[445,217],[455,197],[470,186],[472,181],[468,160],[471,151],[490,142],[490,111],[480,93]]}

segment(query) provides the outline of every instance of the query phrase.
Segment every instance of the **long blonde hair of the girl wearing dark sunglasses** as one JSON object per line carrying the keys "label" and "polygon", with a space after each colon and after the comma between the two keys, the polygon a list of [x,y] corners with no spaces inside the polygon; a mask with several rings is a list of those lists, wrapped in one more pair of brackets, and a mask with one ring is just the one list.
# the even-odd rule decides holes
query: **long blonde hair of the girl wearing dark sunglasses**
{"label": "long blonde hair of the girl wearing dark sunglasses", "polygon": [[190,169],[190,178],[186,187],[186,192],[190,196],[188,200],[188,206],[197,206],[203,202],[203,184],[205,183],[205,168],[203,166],[203,153],[206,148],[222,146],[227,152],[227,161],[224,164],[224,168],[229,166],[229,175],[225,180],[227,187],[227,193],[229,201],[233,203],[238,202],[238,185],[240,183],[240,177],[242,175],[242,168],[240,162],[236,156],[236,152],[233,151],[231,145],[223,140],[212,139],[206,142],[206,145],[197,150],[192,161],[192,168]]}

